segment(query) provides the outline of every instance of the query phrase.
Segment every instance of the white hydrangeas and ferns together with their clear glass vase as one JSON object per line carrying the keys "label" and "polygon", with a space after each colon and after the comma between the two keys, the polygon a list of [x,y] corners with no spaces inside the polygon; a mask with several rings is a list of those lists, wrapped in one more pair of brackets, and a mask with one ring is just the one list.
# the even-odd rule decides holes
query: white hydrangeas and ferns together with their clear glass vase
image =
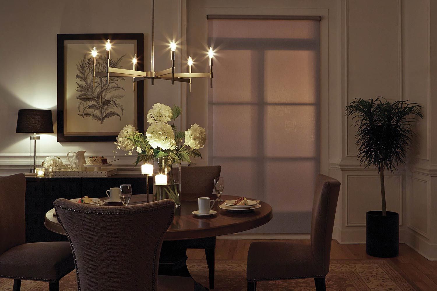
{"label": "white hydrangeas and ferns together with their clear glass vase", "polygon": [[[180,116],[180,107],[155,103],[147,113],[149,127],[146,134],[126,125],[114,142],[116,149],[137,152],[135,165],[139,162],[156,161],[155,171],[165,174],[166,184],[156,184],[155,200],[170,198],[175,207],[180,206],[180,162],[191,163],[192,157],[202,157],[199,149],[205,146],[205,129],[194,123],[185,131],[178,131],[174,122]],[[173,120],[172,124],[169,124]],[[174,165],[173,165],[174,164]],[[176,167],[173,167],[176,166]]]}

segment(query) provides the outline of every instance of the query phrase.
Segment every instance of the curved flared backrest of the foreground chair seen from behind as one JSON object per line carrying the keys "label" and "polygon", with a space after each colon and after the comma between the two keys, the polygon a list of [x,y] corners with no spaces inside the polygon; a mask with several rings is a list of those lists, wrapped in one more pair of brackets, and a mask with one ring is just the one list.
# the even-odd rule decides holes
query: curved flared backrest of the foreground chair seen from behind
{"label": "curved flared backrest of the foreground chair seen from behind", "polygon": [[163,237],[174,202],[93,206],[57,199],[56,216],[73,250],[78,291],[156,290]]}

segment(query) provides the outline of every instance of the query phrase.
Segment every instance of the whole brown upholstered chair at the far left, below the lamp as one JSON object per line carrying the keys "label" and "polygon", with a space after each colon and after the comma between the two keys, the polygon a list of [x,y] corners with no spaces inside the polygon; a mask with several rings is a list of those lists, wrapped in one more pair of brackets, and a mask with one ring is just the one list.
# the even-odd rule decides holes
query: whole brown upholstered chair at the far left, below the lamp
{"label": "whole brown upholstered chair at the far left, below the lamp", "polygon": [[14,291],[21,280],[47,281],[57,291],[59,280],[74,270],[70,244],[24,243],[25,195],[24,174],[0,178],[0,277],[14,279]]}

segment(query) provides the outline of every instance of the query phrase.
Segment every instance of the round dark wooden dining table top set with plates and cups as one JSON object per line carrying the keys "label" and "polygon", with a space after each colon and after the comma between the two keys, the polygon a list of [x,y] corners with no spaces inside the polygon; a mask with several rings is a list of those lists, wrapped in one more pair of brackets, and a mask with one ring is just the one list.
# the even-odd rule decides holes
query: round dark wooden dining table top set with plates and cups
{"label": "round dark wooden dining table top set with plates and cups", "polygon": [[[237,196],[222,195],[223,200],[237,199]],[[106,200],[108,197],[101,198]],[[250,199],[250,198],[248,198]],[[255,200],[255,199],[252,199]],[[141,204],[146,202],[146,195],[132,195],[129,205]],[[210,236],[222,236],[225,234],[239,233],[244,230],[253,229],[269,222],[273,217],[273,211],[270,205],[260,202],[261,207],[253,212],[236,213],[229,212],[218,208],[223,202],[215,202],[212,210],[217,214],[212,216],[195,216],[191,212],[198,210],[198,202],[185,201],[180,202],[180,207],[174,211],[172,225],[168,228],[164,240],[187,240],[198,239]],[[121,205],[121,203],[105,203],[104,206]],[[45,214],[44,225],[52,232],[65,235],[62,226],[53,213],[55,209],[49,210]]]}

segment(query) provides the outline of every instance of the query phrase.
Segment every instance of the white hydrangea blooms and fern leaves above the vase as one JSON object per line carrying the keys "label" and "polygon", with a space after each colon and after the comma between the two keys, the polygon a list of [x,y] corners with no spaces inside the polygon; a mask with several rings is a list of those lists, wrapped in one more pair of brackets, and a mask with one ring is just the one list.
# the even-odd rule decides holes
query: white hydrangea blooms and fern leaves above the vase
{"label": "white hydrangea blooms and fern leaves above the vase", "polygon": [[[174,125],[180,116],[180,107],[173,107],[155,103],[147,113],[149,127],[146,134],[138,132],[132,125],[126,125],[120,131],[117,141],[114,142],[117,149],[137,152],[135,165],[139,162],[153,161],[154,158],[168,157],[171,162],[191,163],[192,157],[202,157],[199,149],[205,146],[205,129],[194,123],[186,131],[178,131]],[[169,122],[173,120],[172,124]]]}

